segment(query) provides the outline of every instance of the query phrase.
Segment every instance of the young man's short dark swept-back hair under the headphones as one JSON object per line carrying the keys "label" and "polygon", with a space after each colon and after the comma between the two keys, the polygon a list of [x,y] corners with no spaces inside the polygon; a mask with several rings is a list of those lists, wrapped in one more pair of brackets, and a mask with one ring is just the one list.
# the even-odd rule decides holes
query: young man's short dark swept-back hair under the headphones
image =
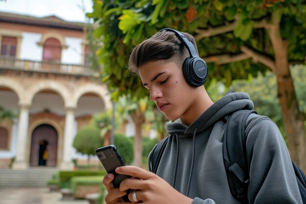
{"label": "young man's short dark swept-back hair under the headphones", "polygon": [[[195,38],[189,33],[182,33],[197,50]],[[129,60],[129,70],[138,74],[138,68],[145,63],[171,58],[174,58],[174,62],[181,66],[188,56],[187,48],[175,33],[163,30],[133,47]]]}

